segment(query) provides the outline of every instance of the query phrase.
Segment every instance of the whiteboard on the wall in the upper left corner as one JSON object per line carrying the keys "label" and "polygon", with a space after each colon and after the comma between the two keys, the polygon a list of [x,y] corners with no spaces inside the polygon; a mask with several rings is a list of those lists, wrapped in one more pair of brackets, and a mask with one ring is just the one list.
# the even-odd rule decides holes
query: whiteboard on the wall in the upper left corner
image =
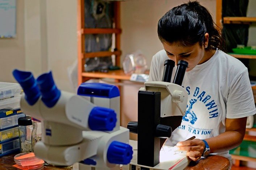
{"label": "whiteboard on the wall in the upper left corner", "polygon": [[0,0],[0,38],[16,36],[16,0]]}

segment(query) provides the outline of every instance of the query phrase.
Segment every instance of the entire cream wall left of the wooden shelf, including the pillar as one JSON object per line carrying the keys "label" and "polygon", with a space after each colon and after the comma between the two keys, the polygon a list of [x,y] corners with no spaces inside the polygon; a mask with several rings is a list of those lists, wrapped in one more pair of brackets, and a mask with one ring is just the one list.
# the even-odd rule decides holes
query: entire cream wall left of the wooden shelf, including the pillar
{"label": "entire cream wall left of the wooden shelf, including the pillar", "polygon": [[77,58],[76,0],[17,0],[17,37],[0,39],[0,81],[15,68],[34,77],[53,71],[59,89],[73,92],[67,67]]}

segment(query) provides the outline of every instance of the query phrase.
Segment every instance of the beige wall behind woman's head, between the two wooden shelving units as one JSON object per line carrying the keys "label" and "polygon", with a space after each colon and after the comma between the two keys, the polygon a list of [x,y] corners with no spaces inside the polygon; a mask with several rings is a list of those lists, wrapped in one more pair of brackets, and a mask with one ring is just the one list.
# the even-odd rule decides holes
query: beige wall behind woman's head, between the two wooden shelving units
{"label": "beige wall behind woman's head, between the two wooden shelving units", "polygon": [[[152,56],[162,50],[158,39],[159,19],[171,8],[184,0],[127,0],[121,2],[121,50],[122,58],[126,54],[140,50],[150,66]],[[216,0],[199,0],[216,18]]]}

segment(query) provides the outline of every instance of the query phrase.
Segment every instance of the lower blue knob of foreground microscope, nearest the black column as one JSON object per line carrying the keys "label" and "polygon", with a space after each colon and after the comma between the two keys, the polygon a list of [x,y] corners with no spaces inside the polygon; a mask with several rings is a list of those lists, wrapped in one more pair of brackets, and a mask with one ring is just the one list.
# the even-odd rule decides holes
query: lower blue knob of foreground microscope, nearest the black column
{"label": "lower blue knob of foreground microscope, nearest the black column", "polygon": [[113,141],[108,148],[109,163],[128,164],[133,158],[133,148],[125,143]]}

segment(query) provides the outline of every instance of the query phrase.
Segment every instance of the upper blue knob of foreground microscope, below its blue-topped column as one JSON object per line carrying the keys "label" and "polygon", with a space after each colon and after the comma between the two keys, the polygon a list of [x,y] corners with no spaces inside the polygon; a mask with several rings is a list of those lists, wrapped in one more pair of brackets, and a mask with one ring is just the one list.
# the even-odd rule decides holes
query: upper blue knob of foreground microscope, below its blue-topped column
{"label": "upper blue knob of foreground microscope, below its blue-topped column", "polygon": [[116,122],[115,111],[104,107],[93,107],[88,118],[90,129],[95,131],[112,131]]}

